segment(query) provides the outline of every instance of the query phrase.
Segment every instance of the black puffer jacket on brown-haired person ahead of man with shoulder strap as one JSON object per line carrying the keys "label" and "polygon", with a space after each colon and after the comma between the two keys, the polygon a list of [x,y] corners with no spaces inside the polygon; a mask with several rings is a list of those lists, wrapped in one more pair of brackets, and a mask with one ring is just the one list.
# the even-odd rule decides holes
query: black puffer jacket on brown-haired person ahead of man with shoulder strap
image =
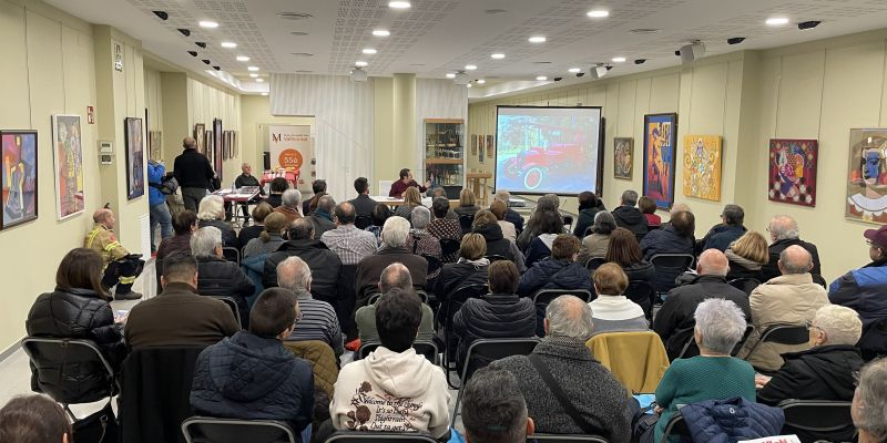
{"label": "black puffer jacket on brown-haired person ahead of man with shoulder strap", "polygon": [[452,330],[459,338],[456,362],[461,368],[475,340],[533,337],[536,308],[532,300],[513,293],[488,293],[462,305],[452,318]]}

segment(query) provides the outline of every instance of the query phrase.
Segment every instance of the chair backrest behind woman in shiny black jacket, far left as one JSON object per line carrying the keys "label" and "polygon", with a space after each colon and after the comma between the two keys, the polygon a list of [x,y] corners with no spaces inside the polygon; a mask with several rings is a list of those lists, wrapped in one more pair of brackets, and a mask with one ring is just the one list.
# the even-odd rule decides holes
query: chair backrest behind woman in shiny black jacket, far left
{"label": "chair backrest behind woman in shiny black jacket, far left", "polygon": [[120,392],[114,370],[91,340],[26,337],[40,390],[59,403],[90,403]]}

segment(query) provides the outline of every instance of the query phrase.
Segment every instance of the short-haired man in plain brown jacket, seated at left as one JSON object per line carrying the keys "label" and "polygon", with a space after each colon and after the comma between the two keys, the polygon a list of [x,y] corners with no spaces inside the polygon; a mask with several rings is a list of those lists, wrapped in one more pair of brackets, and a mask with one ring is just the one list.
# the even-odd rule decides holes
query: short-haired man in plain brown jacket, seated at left
{"label": "short-haired man in plain brown jacket, seated at left", "polygon": [[130,310],[123,328],[130,349],[210,346],[241,330],[227,305],[197,295],[194,257],[166,257],[160,282],[163,291]]}

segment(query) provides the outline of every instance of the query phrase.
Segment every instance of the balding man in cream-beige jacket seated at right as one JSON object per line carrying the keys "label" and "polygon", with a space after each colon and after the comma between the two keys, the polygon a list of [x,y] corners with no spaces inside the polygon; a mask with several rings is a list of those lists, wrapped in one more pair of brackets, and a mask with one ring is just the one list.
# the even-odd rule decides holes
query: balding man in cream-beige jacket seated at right
{"label": "balding man in cream-beige jacket seated at right", "polygon": [[782,276],[758,285],[748,296],[755,330],[740,352],[740,357],[765,371],[779,369],[783,353],[806,351],[810,346],[766,342],[758,344],[750,356],[761,334],[773,324],[809,324],[816,310],[828,305],[825,288],[814,282],[809,274],[813,265],[806,249],[797,245],[785,248],[777,266]]}

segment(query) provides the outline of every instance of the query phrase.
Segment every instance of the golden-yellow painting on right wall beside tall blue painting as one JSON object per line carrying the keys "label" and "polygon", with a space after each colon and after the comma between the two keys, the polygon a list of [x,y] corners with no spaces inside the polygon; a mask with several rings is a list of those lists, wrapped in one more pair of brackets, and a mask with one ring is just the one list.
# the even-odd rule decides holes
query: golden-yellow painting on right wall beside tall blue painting
{"label": "golden-yellow painting on right wall beside tall blue painting", "polygon": [[721,136],[684,137],[684,195],[721,202]]}

